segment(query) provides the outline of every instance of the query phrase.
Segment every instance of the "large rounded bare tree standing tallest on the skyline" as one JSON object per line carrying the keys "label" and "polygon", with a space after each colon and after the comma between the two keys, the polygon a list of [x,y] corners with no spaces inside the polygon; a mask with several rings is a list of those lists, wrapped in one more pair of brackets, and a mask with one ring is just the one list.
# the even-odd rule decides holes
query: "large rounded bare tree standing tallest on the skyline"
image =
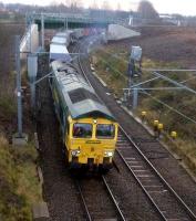
{"label": "large rounded bare tree standing tallest on the skyline", "polygon": [[137,12],[142,19],[157,19],[158,13],[149,1],[143,0],[138,4]]}

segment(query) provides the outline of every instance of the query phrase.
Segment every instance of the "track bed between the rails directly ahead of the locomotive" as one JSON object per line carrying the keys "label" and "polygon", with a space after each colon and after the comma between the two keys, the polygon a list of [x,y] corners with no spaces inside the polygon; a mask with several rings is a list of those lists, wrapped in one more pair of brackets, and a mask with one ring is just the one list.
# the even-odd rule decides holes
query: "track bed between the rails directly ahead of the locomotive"
{"label": "track bed between the rails directly ahead of the locomotive", "polygon": [[[87,180],[76,179],[75,185],[80,192],[87,221],[126,220],[104,176],[96,179],[89,178]],[[104,207],[101,207],[103,206],[102,202]]]}

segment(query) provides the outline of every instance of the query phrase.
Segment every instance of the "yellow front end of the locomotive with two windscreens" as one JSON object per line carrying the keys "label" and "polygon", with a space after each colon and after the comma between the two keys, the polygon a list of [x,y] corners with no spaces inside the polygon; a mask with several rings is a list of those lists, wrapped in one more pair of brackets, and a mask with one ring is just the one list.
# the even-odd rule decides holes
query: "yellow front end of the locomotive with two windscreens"
{"label": "yellow front end of the locomotive with two windscreens", "polygon": [[68,159],[71,168],[110,169],[117,139],[117,124],[106,118],[69,117],[65,137]]}

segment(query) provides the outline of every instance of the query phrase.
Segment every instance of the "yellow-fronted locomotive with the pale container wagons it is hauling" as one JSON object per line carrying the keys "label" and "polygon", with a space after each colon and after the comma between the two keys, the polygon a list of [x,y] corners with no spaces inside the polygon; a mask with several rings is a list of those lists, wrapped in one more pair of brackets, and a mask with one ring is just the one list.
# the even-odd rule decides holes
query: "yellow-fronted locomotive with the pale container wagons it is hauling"
{"label": "yellow-fronted locomotive with the pale container wagons it is hauling", "polygon": [[[65,38],[70,38],[70,33]],[[58,38],[55,41],[59,41]],[[61,45],[61,50],[54,50],[55,45]],[[52,41],[50,45],[50,67],[53,73],[50,87],[65,158],[70,168],[107,171],[113,165],[118,125],[71,63],[66,46],[62,39],[59,43]]]}

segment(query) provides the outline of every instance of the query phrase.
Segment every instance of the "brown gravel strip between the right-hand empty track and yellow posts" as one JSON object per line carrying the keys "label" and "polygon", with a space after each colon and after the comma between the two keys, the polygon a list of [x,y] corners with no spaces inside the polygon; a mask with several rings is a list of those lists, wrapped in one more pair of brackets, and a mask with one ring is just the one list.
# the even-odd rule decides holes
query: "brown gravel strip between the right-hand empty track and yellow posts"
{"label": "brown gravel strip between the right-hand empty track and yellow posts", "polygon": [[[85,50],[87,42],[81,43]],[[113,96],[110,90],[105,88],[91,74],[91,67],[86,60],[83,59],[84,71],[95,88],[99,96],[104,101],[107,107],[112,110],[117,122],[121,123],[128,136],[136,143],[154,167],[167,180],[173,189],[180,196],[186,204],[196,213],[196,185],[189,175],[184,170],[180,164],[169,155],[169,152],[154,139],[138,123],[136,123],[130,115],[127,115]]]}

